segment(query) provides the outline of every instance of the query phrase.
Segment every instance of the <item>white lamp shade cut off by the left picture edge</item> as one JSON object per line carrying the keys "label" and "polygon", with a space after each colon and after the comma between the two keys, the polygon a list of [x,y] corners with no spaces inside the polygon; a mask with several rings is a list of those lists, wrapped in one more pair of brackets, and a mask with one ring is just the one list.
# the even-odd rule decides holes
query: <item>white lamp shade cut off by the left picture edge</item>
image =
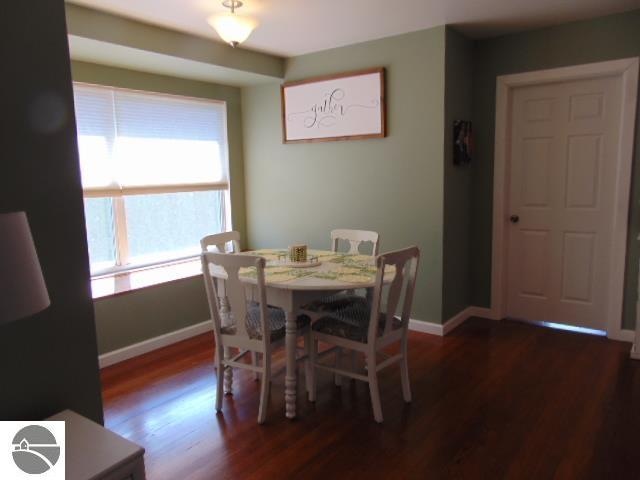
{"label": "white lamp shade cut off by the left picture edge", "polygon": [[0,213],[0,324],[48,306],[49,294],[27,215]]}

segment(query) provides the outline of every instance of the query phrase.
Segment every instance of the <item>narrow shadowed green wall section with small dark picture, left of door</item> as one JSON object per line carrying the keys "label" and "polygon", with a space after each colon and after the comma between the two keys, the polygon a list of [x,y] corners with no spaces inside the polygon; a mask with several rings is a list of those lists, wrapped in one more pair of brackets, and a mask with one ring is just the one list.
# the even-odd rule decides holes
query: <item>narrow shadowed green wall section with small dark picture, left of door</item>
{"label": "narrow shadowed green wall section with small dark picture, left of door", "polygon": [[471,305],[470,165],[453,164],[453,121],[471,120],[473,42],[451,28],[446,32],[444,110],[444,239],[442,319]]}

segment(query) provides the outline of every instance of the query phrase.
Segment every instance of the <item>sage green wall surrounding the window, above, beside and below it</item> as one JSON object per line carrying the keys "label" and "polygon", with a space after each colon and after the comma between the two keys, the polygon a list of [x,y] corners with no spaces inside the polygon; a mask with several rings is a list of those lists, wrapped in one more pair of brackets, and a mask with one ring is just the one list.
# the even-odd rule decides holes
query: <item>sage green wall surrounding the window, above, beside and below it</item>
{"label": "sage green wall surrounding the window, above, beside and below it", "polygon": [[[227,102],[232,222],[246,237],[240,89],[83,62],[72,62],[72,76],[80,82]],[[98,299],[94,307],[101,354],[210,318],[199,276]]]}

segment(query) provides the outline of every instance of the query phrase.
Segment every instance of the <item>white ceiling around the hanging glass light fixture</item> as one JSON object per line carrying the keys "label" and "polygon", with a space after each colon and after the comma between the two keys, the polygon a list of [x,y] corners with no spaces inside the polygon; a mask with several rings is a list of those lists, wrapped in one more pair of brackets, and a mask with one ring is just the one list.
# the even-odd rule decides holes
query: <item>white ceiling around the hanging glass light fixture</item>
{"label": "white ceiling around the hanging glass light fixture", "polygon": [[[70,0],[147,23],[218,39],[207,17],[221,0]],[[283,56],[458,25],[472,37],[511,33],[640,8],[640,0],[243,0],[260,26],[247,48]]]}

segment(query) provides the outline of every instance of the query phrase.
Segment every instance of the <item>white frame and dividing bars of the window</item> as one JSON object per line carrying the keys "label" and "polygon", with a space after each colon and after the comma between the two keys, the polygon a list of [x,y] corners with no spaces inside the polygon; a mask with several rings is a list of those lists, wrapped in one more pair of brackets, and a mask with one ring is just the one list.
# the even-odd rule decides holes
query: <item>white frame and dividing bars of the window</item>
{"label": "white frame and dividing bars of the window", "polygon": [[228,134],[228,115],[227,102],[224,100],[216,100],[210,98],[192,97],[188,95],[175,95],[168,93],[152,92],[147,90],[134,90],[129,88],[114,87],[108,85],[100,85],[86,82],[73,82],[73,86],[88,86],[93,88],[104,88],[105,90],[132,92],[137,94],[158,96],[165,98],[178,98],[183,100],[193,100],[202,103],[213,103],[223,107],[223,132],[222,136],[226,141],[222,161],[227,172],[226,182],[201,183],[201,184],[174,184],[163,186],[134,187],[134,188],[83,188],[83,199],[85,198],[109,198],[112,202],[113,209],[113,227],[114,227],[114,248],[115,248],[115,265],[107,268],[97,269],[91,272],[91,278],[100,278],[112,276],[120,273],[131,272],[149,267],[160,265],[170,265],[173,263],[183,262],[185,260],[195,259],[198,254],[178,256],[166,259],[159,259],[153,262],[131,263],[129,255],[129,237],[127,234],[127,214],[125,208],[125,197],[133,195],[151,195],[151,194],[168,194],[168,193],[186,193],[186,192],[222,192],[221,206],[223,209],[222,231],[232,230],[231,221],[231,171],[229,165],[229,134]]}

